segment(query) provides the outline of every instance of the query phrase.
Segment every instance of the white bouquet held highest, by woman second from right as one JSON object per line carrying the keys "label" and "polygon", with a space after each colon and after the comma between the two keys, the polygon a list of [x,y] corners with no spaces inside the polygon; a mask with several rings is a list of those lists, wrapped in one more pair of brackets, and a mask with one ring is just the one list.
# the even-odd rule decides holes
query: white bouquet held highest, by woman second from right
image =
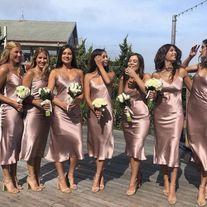
{"label": "white bouquet held highest, by woman second from right", "polygon": [[[145,88],[147,90],[147,96],[149,97],[150,91],[161,91],[162,90],[162,81],[157,78],[151,78],[145,82]],[[147,100],[147,106],[150,111],[152,111],[154,107],[154,101],[152,99]]]}

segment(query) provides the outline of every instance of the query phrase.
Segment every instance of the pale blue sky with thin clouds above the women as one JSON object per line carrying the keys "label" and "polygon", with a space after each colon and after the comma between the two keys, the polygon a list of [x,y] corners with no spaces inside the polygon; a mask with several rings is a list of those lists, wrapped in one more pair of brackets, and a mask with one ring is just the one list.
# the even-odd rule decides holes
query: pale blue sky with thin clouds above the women
{"label": "pale blue sky with thin clouds above the women", "polygon": [[[146,72],[154,70],[160,46],[171,42],[172,16],[202,0],[1,0],[0,19],[75,21],[78,37],[88,46],[105,48],[114,59],[128,35],[134,52],[145,59]],[[178,16],[176,45],[188,55],[194,44],[207,38],[207,2]],[[193,60],[197,61],[197,58]],[[193,62],[192,62],[193,63]]]}

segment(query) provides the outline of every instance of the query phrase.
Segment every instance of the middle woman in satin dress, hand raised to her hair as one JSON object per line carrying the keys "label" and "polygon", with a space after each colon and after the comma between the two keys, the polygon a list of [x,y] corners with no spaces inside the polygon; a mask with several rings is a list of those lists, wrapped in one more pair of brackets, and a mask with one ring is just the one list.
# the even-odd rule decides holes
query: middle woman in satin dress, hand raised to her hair
{"label": "middle woman in satin dress, hand raised to her hair", "polygon": [[[96,174],[94,176],[92,192],[104,189],[103,167],[105,159],[111,159],[114,150],[112,135],[112,81],[113,71],[108,72],[108,56],[103,49],[95,49],[90,58],[90,70],[85,75],[85,99],[90,109],[88,115],[88,153],[96,160]],[[105,111],[94,109],[92,102],[96,98],[103,98],[107,102]],[[100,120],[100,121],[98,121]]]}

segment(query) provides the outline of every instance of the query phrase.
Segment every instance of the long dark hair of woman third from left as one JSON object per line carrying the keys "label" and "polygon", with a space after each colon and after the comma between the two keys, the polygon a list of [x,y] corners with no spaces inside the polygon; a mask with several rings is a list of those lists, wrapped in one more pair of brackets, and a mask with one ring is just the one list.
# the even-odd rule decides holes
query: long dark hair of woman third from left
{"label": "long dark hair of woman third from left", "polygon": [[62,62],[62,54],[63,54],[63,51],[65,49],[69,48],[72,52],[72,62],[71,62],[71,66],[73,68],[77,68],[77,61],[76,61],[76,56],[75,56],[75,50],[68,44],[66,45],[63,45],[59,51],[58,51],[58,58],[57,58],[57,63],[56,63],[56,68],[60,68],[63,66],[63,62]]}

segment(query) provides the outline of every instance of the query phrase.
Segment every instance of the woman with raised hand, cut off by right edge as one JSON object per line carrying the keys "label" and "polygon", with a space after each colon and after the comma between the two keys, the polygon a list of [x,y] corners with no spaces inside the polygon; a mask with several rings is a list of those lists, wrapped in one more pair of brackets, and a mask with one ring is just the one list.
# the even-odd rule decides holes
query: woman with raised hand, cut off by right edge
{"label": "woman with raised hand, cut off by right edge", "polygon": [[[192,48],[189,57],[184,61],[185,65],[188,65],[197,50],[197,46]],[[186,68],[188,72],[196,72],[187,107],[187,130],[193,157],[201,173],[197,203],[199,206],[205,206],[207,194],[207,39],[202,42],[199,57],[199,64]]]}

